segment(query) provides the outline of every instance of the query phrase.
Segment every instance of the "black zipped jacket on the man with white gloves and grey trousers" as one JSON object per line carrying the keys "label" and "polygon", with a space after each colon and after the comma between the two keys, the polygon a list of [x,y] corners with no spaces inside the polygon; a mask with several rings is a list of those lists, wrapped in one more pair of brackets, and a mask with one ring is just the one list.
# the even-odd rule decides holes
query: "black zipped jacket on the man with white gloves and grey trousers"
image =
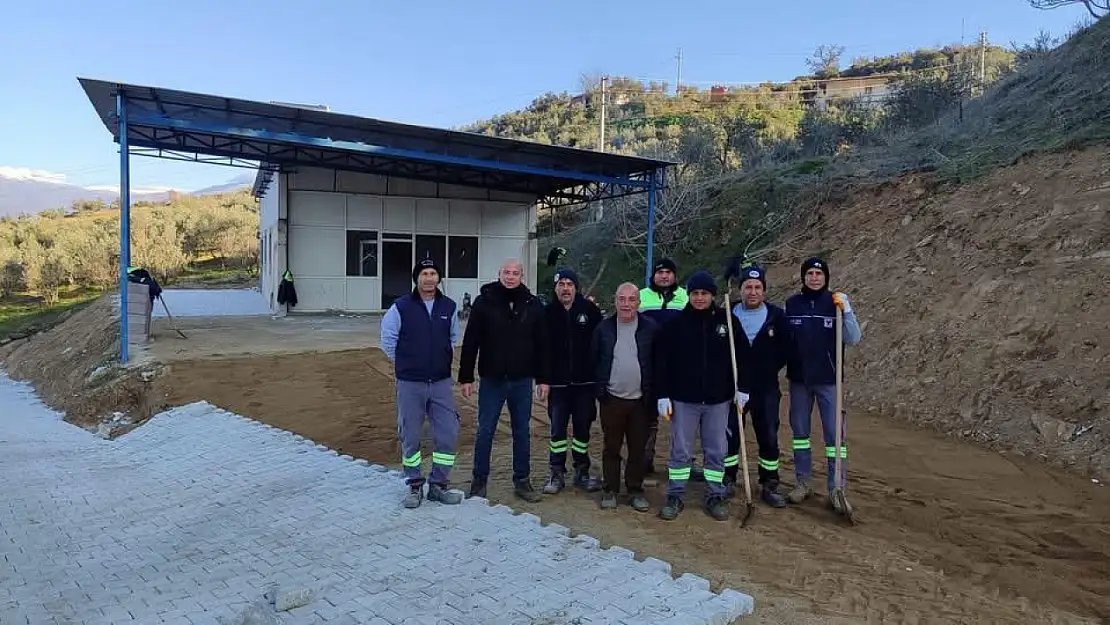
{"label": "black zipped jacket on the man with white gloves and grey trousers", "polygon": [[[728,351],[738,347],[741,334],[740,321],[734,315],[734,340],[729,342],[725,316],[729,314],[716,304],[705,311],[686,304],[663,326],[655,350],[656,396],[690,404],[719,404],[735,396],[737,384]],[[741,379],[738,386],[747,387],[747,381]]]}

